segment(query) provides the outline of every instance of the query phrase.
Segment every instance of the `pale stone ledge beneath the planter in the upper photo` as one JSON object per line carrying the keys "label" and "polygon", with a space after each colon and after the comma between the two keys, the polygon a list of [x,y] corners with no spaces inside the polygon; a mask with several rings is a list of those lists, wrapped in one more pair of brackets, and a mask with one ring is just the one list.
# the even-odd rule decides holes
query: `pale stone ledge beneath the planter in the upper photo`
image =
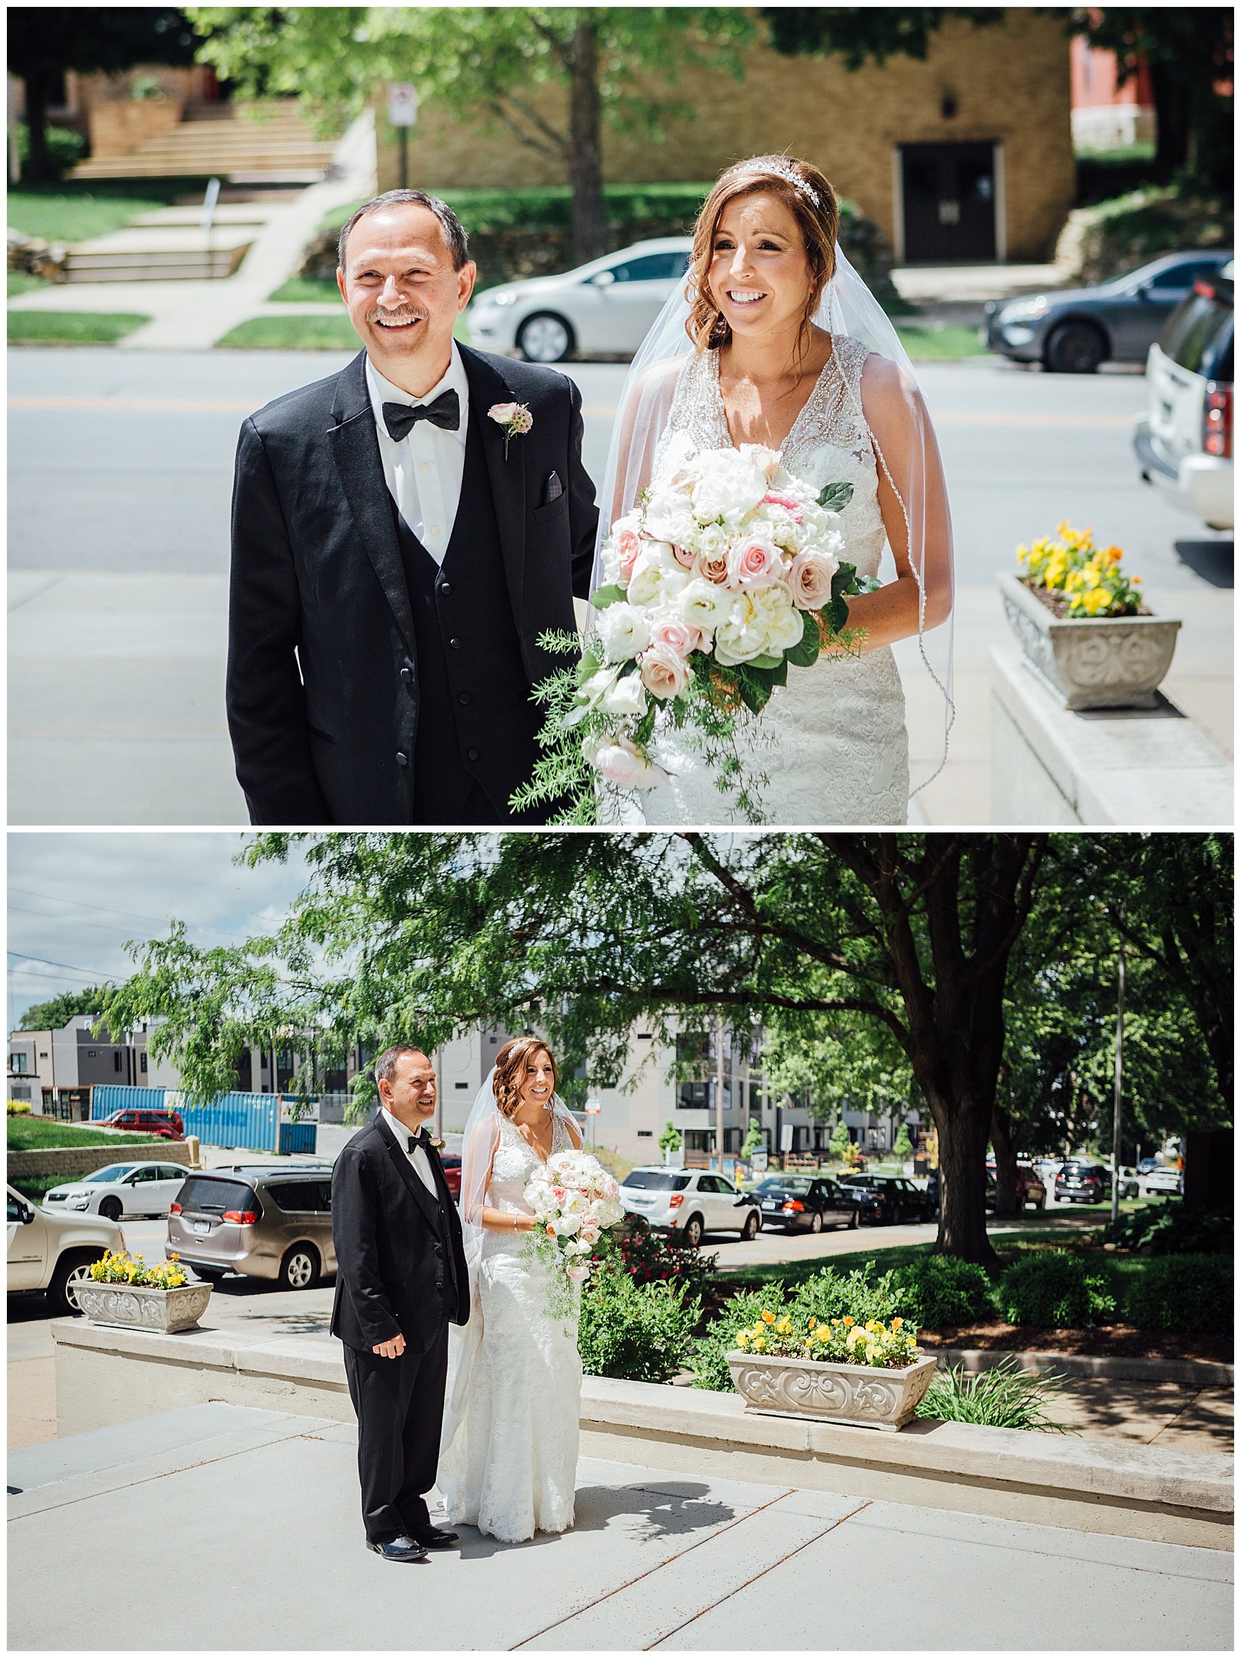
{"label": "pale stone ledge beneath the planter in the upper photo", "polygon": [[1233,764],[1181,711],[1070,713],[1026,667],[992,647],[992,822],[1231,824]]}

